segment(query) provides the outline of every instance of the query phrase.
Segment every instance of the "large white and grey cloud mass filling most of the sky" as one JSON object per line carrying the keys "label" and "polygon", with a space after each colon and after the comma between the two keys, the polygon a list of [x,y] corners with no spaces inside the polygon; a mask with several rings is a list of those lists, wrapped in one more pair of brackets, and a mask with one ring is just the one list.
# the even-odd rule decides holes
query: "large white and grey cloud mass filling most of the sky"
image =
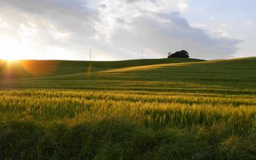
{"label": "large white and grey cloud mass filling most of the sky", "polygon": [[145,58],[187,49],[195,58],[218,59],[230,57],[240,42],[189,25],[173,12],[189,9],[181,0],[0,0],[0,6],[0,24],[12,24],[0,35],[21,47],[26,42],[24,52],[39,58],[88,60],[92,48],[94,60],[137,59],[141,49]]}

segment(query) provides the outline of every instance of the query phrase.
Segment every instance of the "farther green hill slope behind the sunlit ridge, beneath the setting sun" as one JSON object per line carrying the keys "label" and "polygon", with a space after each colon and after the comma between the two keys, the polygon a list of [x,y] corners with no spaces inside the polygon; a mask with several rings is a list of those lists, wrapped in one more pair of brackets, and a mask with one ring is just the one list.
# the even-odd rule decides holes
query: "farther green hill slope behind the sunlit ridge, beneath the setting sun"
{"label": "farther green hill slope behind the sunlit ridge, beneath the setting sun", "polygon": [[[35,71],[38,68],[46,71],[44,75],[40,76],[53,76],[62,74],[73,74],[87,71],[90,67],[91,71],[101,71],[114,68],[122,68],[129,66],[147,66],[156,64],[168,64],[168,63],[181,63],[181,62],[193,62],[203,61],[195,59],[153,59],[153,60],[122,60],[122,61],[70,61],[70,60],[20,60],[15,62],[15,65],[9,64],[4,60],[0,60],[0,73],[1,77],[4,75],[4,69],[9,67],[15,78],[19,77],[32,77],[26,68],[34,68]],[[47,67],[48,66],[48,67]],[[49,72],[47,72],[49,70]],[[34,75],[35,76],[35,75]],[[37,75],[36,75],[37,76]]]}

